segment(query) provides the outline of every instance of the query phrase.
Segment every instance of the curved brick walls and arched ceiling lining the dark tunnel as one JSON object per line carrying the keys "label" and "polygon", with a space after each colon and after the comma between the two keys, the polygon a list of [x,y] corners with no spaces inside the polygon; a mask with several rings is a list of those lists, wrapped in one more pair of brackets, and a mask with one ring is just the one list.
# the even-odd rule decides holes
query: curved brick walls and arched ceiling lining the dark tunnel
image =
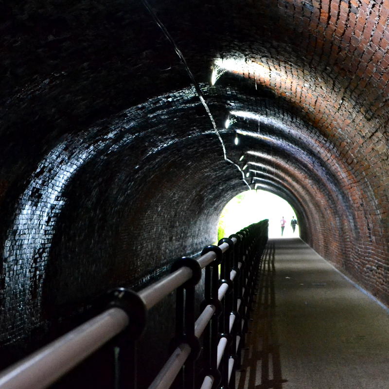
{"label": "curved brick walls and arched ceiling lining the dark tunnel", "polygon": [[[1,7],[0,342],[23,354],[212,243],[247,186],[142,2]],[[151,7],[250,187],[285,198],[302,239],[388,304],[389,6]]]}

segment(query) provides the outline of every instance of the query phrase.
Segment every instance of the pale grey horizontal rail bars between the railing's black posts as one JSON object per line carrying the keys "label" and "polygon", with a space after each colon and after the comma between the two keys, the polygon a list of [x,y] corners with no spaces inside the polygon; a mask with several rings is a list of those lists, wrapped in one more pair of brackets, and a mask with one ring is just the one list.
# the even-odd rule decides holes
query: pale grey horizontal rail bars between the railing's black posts
{"label": "pale grey horizontal rail bars between the railing's black posts", "polygon": [[[236,237],[231,236],[230,243],[234,246],[238,242]],[[223,242],[218,246],[222,253],[229,250],[230,244]],[[244,253],[246,255],[246,253]],[[197,259],[201,269],[210,265],[217,257],[216,252],[210,251]],[[241,269],[242,262],[239,262],[238,269]],[[238,274],[237,269],[230,271],[230,281],[232,282]],[[248,274],[252,269],[248,271]],[[170,275],[149,285],[137,294],[137,298],[147,311],[163,300],[171,292],[187,283],[193,277],[193,270],[190,267],[182,266]],[[246,286],[243,288],[245,290]],[[229,289],[228,283],[222,283],[218,290],[218,299],[221,301]],[[239,305],[240,305],[239,301]],[[245,311],[247,307],[245,308]],[[195,336],[200,337],[208,323],[214,316],[216,307],[212,304],[206,306],[199,318],[195,322]],[[230,330],[233,326],[235,316],[231,315]],[[134,319],[135,317],[132,317]],[[62,375],[77,366],[81,361],[94,353],[114,336],[120,334],[134,320],[131,320],[131,313],[119,305],[112,307],[90,319],[79,327],[64,336],[54,340],[47,346],[39,349],[34,354],[27,356],[18,363],[10,366],[0,373],[0,389],[43,389],[47,388]],[[243,322],[242,322],[243,328]],[[236,349],[241,340],[237,340]],[[222,337],[218,346],[218,363],[227,346],[226,338]],[[165,366],[157,375],[150,388],[168,388],[177,376],[178,371],[184,365],[191,353],[191,346],[186,343],[180,344],[171,355]],[[221,353],[219,355],[219,353]],[[229,380],[233,363],[229,362]],[[214,381],[214,377],[206,376],[204,383],[208,385]],[[204,385],[204,384],[203,384]],[[203,386],[202,386],[203,387]]]}

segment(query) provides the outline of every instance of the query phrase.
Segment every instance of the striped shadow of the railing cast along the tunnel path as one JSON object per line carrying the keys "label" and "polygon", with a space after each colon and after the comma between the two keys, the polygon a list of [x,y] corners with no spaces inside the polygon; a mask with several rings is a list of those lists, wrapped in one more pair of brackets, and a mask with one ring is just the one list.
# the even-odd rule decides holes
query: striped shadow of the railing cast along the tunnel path
{"label": "striped shadow of the railing cast along the tunnel path", "polygon": [[257,301],[244,351],[238,389],[282,389],[280,345],[275,320],[274,243],[269,243],[260,264]]}

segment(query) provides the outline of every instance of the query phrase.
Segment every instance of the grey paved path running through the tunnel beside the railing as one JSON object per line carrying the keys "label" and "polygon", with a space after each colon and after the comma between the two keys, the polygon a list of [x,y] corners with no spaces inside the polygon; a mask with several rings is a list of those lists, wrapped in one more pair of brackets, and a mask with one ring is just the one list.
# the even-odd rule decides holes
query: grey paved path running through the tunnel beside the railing
{"label": "grey paved path running through the tunnel beside the railing", "polygon": [[388,389],[389,312],[301,239],[271,239],[239,389]]}

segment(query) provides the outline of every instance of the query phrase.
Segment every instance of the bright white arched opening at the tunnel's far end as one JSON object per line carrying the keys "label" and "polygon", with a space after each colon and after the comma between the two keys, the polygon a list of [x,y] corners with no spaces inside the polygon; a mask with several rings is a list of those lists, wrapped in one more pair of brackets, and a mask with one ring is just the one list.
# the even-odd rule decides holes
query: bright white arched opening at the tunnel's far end
{"label": "bright white arched opening at the tunnel's far end", "polygon": [[[218,239],[230,236],[252,223],[269,219],[269,238],[299,237],[299,225],[295,231],[291,226],[296,213],[291,205],[278,195],[263,190],[244,191],[233,197],[220,214],[217,235]],[[281,219],[285,219],[281,235]]]}

